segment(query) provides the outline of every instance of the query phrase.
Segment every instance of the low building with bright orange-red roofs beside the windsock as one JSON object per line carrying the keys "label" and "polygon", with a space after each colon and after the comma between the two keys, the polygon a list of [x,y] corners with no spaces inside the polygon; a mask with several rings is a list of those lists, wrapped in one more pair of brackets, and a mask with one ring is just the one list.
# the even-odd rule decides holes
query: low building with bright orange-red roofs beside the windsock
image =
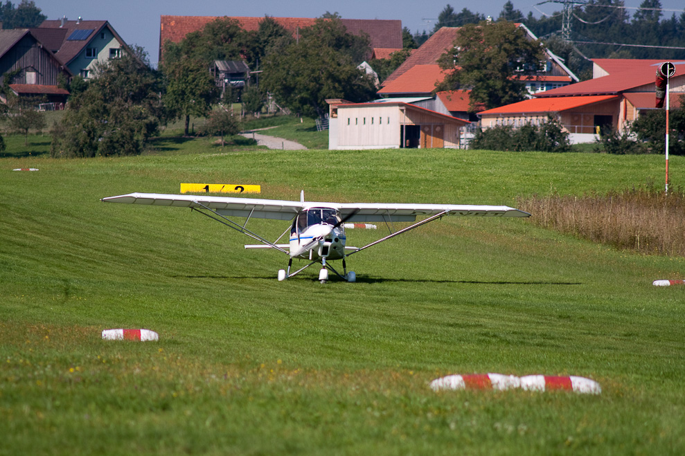
{"label": "low building with bright orange-red roofs beside the windsock", "polygon": [[[598,129],[625,131],[641,111],[655,109],[655,76],[663,60],[598,59],[593,61],[598,77],[559,89],[537,93],[535,98],[478,113],[481,127],[559,120],[571,134],[572,143],[596,139]],[[685,95],[685,64],[676,66],[670,78],[670,106]]]}

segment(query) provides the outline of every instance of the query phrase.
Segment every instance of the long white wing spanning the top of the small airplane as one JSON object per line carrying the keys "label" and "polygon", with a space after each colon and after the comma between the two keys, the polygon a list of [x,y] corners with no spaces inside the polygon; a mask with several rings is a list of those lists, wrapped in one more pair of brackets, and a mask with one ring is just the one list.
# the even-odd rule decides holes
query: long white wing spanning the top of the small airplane
{"label": "long white wing spanning the top of the small airplane", "polygon": [[129,193],[103,198],[102,201],[176,208],[209,208],[224,216],[276,220],[291,220],[300,210],[312,207],[337,208],[341,217],[350,222],[415,221],[417,216],[429,217],[440,213],[466,217],[530,217],[528,212],[508,206],[470,204],[324,203],[161,193]]}

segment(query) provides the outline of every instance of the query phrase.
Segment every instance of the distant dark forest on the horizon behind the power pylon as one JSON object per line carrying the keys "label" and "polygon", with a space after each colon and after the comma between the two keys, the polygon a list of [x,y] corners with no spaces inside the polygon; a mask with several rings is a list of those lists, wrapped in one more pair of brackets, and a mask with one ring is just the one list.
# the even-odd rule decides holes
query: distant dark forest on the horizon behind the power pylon
{"label": "distant dark forest on the horizon behind the power pylon", "polygon": [[[582,1],[574,1],[569,8],[569,41],[562,39],[562,0],[553,2],[562,10],[540,18],[532,12],[525,16],[507,1],[499,16],[491,19],[524,24],[581,80],[591,78],[589,59],[685,60],[685,12],[676,15],[664,11],[659,0],[644,0],[636,10],[628,10],[621,0],[589,0],[578,5]],[[477,24],[486,19],[479,12],[467,8],[456,12],[447,5],[430,33],[417,32],[413,38],[420,46],[441,27]]]}

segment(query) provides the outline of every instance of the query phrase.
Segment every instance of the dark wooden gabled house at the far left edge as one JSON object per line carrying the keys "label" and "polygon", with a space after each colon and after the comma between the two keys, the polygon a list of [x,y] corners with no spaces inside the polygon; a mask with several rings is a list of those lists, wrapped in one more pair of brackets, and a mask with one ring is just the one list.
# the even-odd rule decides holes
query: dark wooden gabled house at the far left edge
{"label": "dark wooden gabled house at the far left edge", "polygon": [[26,28],[0,30],[0,84],[10,71],[18,71],[8,84],[15,95],[43,96],[55,103],[69,95],[57,82],[60,75],[69,80],[71,71]]}

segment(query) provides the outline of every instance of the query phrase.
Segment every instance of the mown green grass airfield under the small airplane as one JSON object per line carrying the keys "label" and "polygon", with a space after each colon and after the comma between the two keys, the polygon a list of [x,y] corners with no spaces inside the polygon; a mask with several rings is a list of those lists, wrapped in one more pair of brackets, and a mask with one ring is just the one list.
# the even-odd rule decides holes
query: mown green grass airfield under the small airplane
{"label": "mown green grass airfield under the small airplane", "polygon": [[[671,157],[672,185],[684,165]],[[652,286],[685,278],[683,258],[447,217],[350,257],[357,283],[321,285],[316,268],[278,282],[285,255],[206,217],[99,201],[202,182],[516,206],[663,167],[432,149],[0,158],[0,454],[683,454],[685,287]],[[248,227],[276,239],[287,222]],[[121,327],[160,340],[100,338]],[[603,393],[428,387],[487,372],[587,376]]]}

